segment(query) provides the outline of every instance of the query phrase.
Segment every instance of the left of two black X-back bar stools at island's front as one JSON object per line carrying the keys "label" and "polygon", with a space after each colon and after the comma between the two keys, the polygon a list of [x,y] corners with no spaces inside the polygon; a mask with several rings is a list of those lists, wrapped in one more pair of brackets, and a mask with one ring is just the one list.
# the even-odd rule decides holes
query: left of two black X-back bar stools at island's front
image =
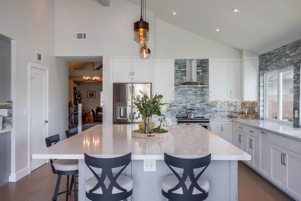
{"label": "left of two black X-back bar stools at island's front", "polygon": [[[133,193],[133,180],[121,175],[131,162],[132,153],[116,158],[95,158],[85,154],[85,163],[95,177],[85,182],[86,197],[92,201],[127,200]],[[98,175],[91,167],[101,168]],[[112,168],[123,167],[116,175]]]}

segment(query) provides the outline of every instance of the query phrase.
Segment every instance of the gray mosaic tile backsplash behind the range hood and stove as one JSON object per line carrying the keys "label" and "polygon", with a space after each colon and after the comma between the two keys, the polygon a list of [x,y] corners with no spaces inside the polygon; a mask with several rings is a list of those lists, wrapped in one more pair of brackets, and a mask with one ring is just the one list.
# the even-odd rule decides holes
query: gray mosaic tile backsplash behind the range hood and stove
{"label": "gray mosaic tile backsplash behind the range hood and stove", "polygon": [[[186,60],[175,60],[175,85],[186,82]],[[195,110],[195,116],[225,117],[230,112],[230,106],[234,107],[234,113],[240,108],[248,108],[249,116],[259,119],[259,113],[255,113],[255,107],[259,107],[258,101],[209,101],[209,61],[197,60],[197,82],[202,82],[206,87],[178,86],[175,88],[175,100],[167,101],[168,105],[164,114],[166,116],[187,116],[188,108]]]}

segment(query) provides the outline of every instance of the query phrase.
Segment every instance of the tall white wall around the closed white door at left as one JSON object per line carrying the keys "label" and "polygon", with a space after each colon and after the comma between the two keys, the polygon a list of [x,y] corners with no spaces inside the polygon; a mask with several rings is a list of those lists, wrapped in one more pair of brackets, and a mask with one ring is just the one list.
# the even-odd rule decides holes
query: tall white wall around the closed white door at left
{"label": "tall white wall around the closed white door at left", "polygon": [[[10,181],[29,173],[28,62],[49,67],[49,135],[63,138],[68,128],[68,63],[54,57],[54,1],[0,0],[0,34],[14,39],[12,62],[13,128]],[[36,51],[44,62],[36,62]]]}

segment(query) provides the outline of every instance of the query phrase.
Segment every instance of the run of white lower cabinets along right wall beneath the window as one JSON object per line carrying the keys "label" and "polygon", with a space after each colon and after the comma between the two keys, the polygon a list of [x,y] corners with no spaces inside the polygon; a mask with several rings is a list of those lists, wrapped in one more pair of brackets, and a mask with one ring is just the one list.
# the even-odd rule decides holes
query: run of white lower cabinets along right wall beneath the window
{"label": "run of white lower cabinets along right wall beneath the window", "polygon": [[246,164],[301,200],[301,142],[234,122],[232,144],[251,155]]}

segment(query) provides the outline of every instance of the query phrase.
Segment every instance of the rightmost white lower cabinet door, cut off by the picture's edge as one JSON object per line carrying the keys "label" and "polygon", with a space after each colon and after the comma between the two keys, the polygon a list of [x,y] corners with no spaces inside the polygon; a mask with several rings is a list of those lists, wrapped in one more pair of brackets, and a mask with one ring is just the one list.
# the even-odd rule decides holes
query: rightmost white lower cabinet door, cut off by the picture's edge
{"label": "rightmost white lower cabinet door, cut off by the picture's edge", "polygon": [[301,200],[301,155],[290,150],[285,150],[285,154],[285,190]]}

